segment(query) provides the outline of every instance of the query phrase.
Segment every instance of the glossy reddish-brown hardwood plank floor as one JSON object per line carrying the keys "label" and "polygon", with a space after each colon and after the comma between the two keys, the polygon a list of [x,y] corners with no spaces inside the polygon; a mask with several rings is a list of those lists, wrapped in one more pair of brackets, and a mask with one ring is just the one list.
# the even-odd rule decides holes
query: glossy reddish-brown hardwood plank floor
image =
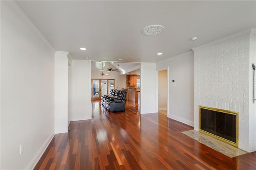
{"label": "glossy reddish-brown hardwood plank floor", "polygon": [[129,102],[109,113],[92,101],[93,119],[56,134],[35,168],[46,170],[255,170],[256,152],[229,158],[182,134],[193,127],[163,114],[137,114]]}

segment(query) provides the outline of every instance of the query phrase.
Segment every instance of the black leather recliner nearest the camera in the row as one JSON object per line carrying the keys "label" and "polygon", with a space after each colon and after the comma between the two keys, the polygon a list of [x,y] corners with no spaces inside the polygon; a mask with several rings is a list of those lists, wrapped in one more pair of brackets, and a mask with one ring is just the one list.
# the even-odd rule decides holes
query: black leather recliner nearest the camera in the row
{"label": "black leather recliner nearest the camera in the row", "polygon": [[106,100],[106,109],[110,112],[125,111],[126,91],[120,91],[118,96]]}

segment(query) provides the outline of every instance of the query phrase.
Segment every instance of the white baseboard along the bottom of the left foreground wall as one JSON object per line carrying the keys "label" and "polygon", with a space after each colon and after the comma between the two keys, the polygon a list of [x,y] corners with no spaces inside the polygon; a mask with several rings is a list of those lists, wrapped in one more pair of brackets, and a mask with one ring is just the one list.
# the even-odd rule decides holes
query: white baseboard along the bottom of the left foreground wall
{"label": "white baseboard along the bottom of the left foreground wall", "polygon": [[52,141],[53,137],[54,137],[54,134],[50,135],[46,139],[46,141],[44,142],[42,147],[38,150],[38,152],[36,153],[34,158],[32,158],[32,160],[29,162],[28,166],[26,166],[25,170],[32,170],[32,169],[34,169],[34,167],[36,166],[37,162],[40,160],[41,156],[44,154],[44,151],[46,150],[46,148],[48,147],[48,145]]}

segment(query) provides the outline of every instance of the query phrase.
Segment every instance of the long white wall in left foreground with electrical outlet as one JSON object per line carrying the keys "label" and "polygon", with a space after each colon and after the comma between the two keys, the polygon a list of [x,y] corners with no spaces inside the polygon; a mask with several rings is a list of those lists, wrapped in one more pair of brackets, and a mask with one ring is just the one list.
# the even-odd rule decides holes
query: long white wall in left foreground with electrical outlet
{"label": "long white wall in left foreground with electrical outlet", "polygon": [[54,135],[54,52],[0,3],[0,169],[32,169]]}

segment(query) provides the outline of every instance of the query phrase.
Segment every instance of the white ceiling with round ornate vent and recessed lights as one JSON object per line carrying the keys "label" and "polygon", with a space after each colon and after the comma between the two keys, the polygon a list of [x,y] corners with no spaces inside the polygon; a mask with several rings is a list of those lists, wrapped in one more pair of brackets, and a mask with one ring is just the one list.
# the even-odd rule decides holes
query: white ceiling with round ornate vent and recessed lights
{"label": "white ceiling with round ornate vent and recessed lights", "polygon": [[[73,59],[155,63],[256,27],[256,1],[15,2],[56,51]],[[164,31],[142,34],[154,24]]]}

